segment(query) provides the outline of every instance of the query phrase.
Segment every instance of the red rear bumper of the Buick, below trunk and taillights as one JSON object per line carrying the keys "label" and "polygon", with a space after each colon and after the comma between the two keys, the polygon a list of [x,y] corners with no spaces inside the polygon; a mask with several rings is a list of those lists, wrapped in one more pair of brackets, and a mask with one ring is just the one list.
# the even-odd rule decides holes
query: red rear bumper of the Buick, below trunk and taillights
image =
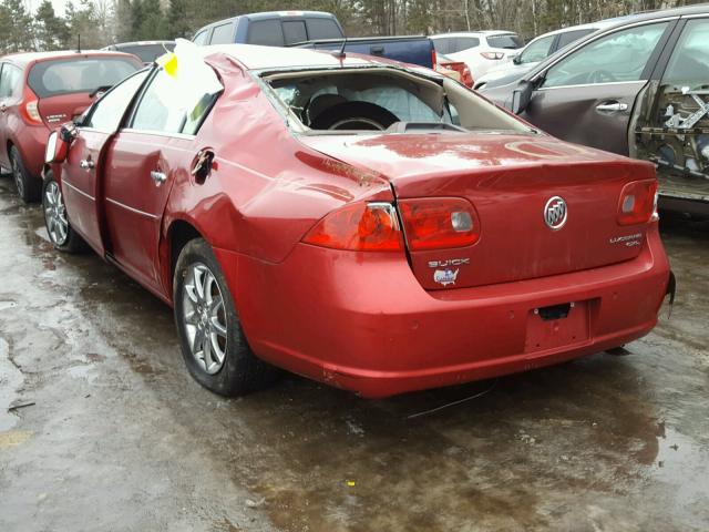
{"label": "red rear bumper of the Buick, below trunk and taillights", "polygon": [[[657,226],[626,263],[440,291],[423,290],[407,262],[389,254],[301,244],[278,265],[218,249],[217,256],[259,357],[364,397],[524,371],[627,344],[656,325],[669,280]],[[540,325],[536,308],[566,303],[575,303],[568,321]]]}

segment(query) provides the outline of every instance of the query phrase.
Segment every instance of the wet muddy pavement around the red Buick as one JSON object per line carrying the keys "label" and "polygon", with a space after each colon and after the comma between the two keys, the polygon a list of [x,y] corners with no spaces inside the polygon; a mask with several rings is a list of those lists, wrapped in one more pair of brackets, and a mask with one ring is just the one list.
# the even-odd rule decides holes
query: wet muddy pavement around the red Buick
{"label": "wet muddy pavement around the red Buick", "polygon": [[188,377],[172,311],[54,252],[11,186],[1,531],[709,530],[709,224],[665,224],[677,304],[630,356],[386,401],[298,377],[225,400]]}

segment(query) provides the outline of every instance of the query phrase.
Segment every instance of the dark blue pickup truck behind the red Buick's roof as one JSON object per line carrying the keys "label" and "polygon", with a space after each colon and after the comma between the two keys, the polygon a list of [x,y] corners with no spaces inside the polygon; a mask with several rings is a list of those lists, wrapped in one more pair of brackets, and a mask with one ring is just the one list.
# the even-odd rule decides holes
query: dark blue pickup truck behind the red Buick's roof
{"label": "dark blue pickup truck behind the red Buick's roof", "polygon": [[192,39],[195,44],[260,44],[377,55],[404,63],[435,66],[433,42],[428,37],[364,37],[346,39],[332,13],[273,11],[250,13],[205,25]]}

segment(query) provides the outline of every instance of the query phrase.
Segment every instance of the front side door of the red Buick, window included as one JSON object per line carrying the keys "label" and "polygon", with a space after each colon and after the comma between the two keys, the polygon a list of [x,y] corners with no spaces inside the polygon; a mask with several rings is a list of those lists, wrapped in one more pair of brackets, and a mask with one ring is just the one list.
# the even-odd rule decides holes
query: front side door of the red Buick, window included
{"label": "front side door of the red Buick, window included", "polygon": [[127,106],[145,81],[147,71],[129,78],[107,92],[82,119],[62,166],[61,186],[72,227],[100,255],[105,243],[102,232],[101,186],[105,152]]}

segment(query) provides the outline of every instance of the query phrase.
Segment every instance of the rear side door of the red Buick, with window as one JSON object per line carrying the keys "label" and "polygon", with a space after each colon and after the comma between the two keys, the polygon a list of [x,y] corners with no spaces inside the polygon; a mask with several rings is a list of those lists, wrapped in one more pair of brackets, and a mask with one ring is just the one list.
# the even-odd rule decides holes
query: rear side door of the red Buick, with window
{"label": "rear side door of the red Buick, with window", "polygon": [[214,103],[214,96],[207,98],[193,106],[199,111],[187,113],[174,86],[163,70],[148,81],[127,127],[112,143],[103,192],[109,253],[131,275],[161,291],[168,288],[161,287],[157,256],[163,213],[176,177],[181,172],[188,176],[204,147],[195,133]]}

